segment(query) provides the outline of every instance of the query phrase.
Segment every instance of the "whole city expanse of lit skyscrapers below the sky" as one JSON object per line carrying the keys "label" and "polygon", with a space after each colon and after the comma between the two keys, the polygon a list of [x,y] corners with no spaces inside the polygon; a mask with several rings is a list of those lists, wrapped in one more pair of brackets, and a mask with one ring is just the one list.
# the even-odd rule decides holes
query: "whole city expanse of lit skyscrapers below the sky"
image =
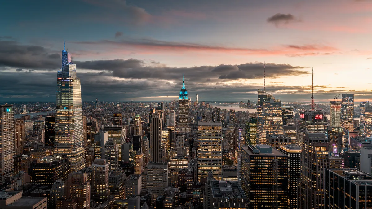
{"label": "whole city expanse of lit skyscrapers below the sky", "polygon": [[[257,113],[179,99],[83,108],[62,51],[55,114],[0,105],[0,208],[372,208],[372,109],[354,95],[330,117],[258,90]],[[243,102],[240,106],[244,106]],[[108,110],[105,110],[107,108]]]}

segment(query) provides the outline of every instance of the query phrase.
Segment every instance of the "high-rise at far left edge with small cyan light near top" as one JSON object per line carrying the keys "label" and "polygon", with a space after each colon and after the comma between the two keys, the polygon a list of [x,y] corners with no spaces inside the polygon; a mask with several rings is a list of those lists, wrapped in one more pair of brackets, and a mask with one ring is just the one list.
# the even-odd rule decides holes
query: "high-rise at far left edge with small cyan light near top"
{"label": "high-rise at far left edge with small cyan light near top", "polygon": [[14,171],[14,112],[12,105],[0,105],[0,184]]}

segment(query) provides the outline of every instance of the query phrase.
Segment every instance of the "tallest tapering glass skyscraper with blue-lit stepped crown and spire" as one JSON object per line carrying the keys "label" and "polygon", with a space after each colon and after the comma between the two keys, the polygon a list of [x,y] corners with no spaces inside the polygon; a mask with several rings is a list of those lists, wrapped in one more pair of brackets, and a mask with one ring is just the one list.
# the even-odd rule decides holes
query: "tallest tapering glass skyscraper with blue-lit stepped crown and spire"
{"label": "tallest tapering glass skyscraper with blue-lit stepped crown and spire", "polygon": [[80,78],[76,77],[76,64],[71,62],[65,47],[62,68],[57,74],[54,151],[68,156],[72,171],[85,167]]}

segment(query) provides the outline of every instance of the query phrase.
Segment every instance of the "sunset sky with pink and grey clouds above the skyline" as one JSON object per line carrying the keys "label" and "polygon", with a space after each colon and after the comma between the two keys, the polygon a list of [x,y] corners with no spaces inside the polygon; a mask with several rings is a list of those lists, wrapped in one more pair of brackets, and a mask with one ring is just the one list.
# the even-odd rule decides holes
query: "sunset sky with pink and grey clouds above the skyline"
{"label": "sunset sky with pink and grey clouds above the skyline", "polygon": [[63,38],[83,100],[372,100],[372,0],[0,3],[0,101],[55,101]]}

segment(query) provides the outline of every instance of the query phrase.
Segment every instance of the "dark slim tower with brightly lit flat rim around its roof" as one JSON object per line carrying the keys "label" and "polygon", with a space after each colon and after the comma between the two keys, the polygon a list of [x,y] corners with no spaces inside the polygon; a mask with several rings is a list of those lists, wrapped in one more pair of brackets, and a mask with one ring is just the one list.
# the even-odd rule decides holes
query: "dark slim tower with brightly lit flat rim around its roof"
{"label": "dark slim tower with brightly lit flat rim around its roof", "polygon": [[302,147],[296,144],[280,146],[279,151],[288,156],[288,209],[297,208],[297,183],[301,173]]}

